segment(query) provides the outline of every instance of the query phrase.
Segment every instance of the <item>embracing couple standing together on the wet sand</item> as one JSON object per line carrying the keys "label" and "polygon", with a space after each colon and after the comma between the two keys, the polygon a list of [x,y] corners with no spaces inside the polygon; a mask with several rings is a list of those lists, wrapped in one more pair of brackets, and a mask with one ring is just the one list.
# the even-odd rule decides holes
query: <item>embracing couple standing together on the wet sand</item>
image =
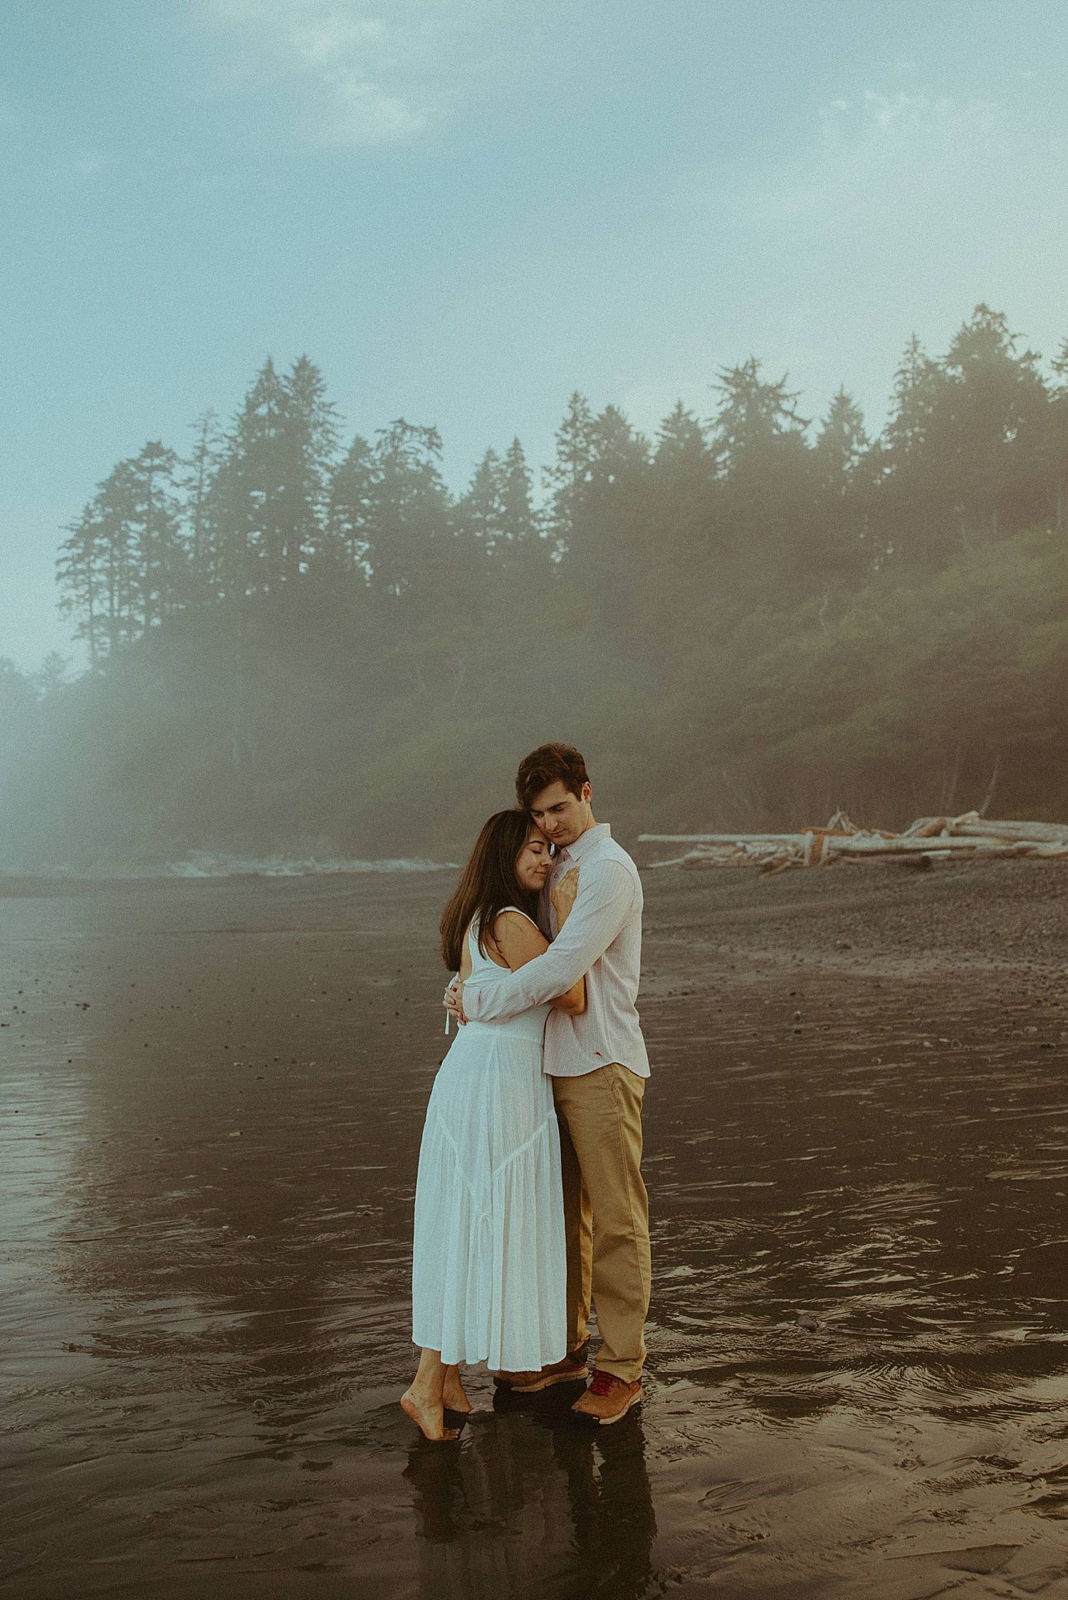
{"label": "embracing couple standing together on the wet sand", "polygon": [[[572,1410],[617,1422],[641,1400],[649,1206],[635,998],[641,882],[593,818],[579,750],[520,763],[515,811],[483,827],[441,918],[459,1034],[419,1152],[412,1338],[401,1406],[427,1438],[472,1410],[459,1366],[536,1394],[587,1379]],[[446,1019],[448,1029],[448,1019]]]}

